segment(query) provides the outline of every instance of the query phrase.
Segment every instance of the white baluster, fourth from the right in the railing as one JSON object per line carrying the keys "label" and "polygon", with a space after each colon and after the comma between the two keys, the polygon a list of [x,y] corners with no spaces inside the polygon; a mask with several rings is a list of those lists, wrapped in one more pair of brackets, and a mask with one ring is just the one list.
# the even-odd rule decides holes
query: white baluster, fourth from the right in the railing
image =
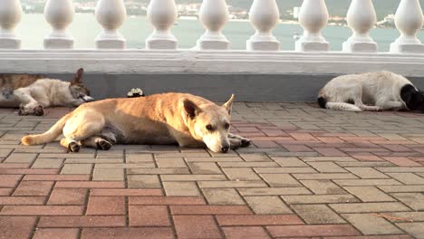
{"label": "white baluster, fourth from the right in the railing", "polygon": [[247,40],[247,50],[279,51],[280,42],[272,33],[279,19],[280,11],[275,0],[254,0],[250,7],[249,20],[256,32]]}

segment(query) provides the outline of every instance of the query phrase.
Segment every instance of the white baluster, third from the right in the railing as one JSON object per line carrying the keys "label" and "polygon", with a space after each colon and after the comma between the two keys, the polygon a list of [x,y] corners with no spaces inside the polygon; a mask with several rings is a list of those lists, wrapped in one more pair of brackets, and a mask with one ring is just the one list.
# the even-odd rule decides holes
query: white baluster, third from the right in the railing
{"label": "white baluster, third from the right in the railing", "polygon": [[304,27],[304,35],[296,41],[297,52],[329,51],[321,30],[328,22],[328,10],[324,0],[304,0],[299,11],[299,23]]}

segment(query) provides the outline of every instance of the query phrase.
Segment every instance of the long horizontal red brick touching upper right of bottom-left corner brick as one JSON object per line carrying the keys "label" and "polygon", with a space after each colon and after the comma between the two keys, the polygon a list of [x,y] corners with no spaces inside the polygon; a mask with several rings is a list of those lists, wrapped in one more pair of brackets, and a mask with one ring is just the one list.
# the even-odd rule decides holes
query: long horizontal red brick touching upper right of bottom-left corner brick
{"label": "long horizontal red brick touching upper right of bottom-left corner brick", "polygon": [[125,226],[123,215],[42,216],[38,227],[116,227]]}

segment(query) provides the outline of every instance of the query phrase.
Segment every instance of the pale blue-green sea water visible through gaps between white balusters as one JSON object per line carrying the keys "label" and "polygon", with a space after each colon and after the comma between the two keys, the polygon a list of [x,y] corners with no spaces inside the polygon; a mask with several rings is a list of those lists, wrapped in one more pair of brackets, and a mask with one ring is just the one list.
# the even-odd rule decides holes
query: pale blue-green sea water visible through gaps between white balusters
{"label": "pale blue-green sea water visible through gaps between white balusters", "polygon": [[[127,48],[142,49],[145,39],[152,32],[146,16],[129,16],[120,27],[120,33],[127,39]],[[51,31],[43,14],[24,14],[16,32],[22,39],[23,49],[42,49],[43,37]],[[68,31],[75,39],[75,48],[94,48],[94,39],[101,32],[94,14],[75,14]],[[172,26],[172,33],[178,38],[178,48],[189,49],[196,45],[198,38],[204,33],[203,25],[197,19],[178,19]],[[246,40],[255,33],[248,21],[229,21],[223,33],[231,42],[231,49],[246,50]],[[273,33],[281,43],[282,51],[294,51],[296,35],[302,35],[302,26],[296,23],[277,24]],[[342,43],[352,35],[347,26],[328,25],[323,29],[323,36],[330,43],[331,51],[341,51]],[[394,28],[374,28],[371,37],[379,45],[379,52],[388,52],[390,43],[400,35]],[[424,40],[424,31],[419,32],[419,39]]]}

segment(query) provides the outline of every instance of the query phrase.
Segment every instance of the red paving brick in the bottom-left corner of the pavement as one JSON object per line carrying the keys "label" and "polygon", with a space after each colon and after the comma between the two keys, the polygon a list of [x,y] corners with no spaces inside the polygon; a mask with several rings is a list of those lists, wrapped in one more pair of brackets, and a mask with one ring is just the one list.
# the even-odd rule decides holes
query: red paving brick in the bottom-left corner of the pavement
{"label": "red paving brick in the bottom-left corner of the pavement", "polygon": [[29,238],[36,219],[35,216],[0,216],[0,238]]}

